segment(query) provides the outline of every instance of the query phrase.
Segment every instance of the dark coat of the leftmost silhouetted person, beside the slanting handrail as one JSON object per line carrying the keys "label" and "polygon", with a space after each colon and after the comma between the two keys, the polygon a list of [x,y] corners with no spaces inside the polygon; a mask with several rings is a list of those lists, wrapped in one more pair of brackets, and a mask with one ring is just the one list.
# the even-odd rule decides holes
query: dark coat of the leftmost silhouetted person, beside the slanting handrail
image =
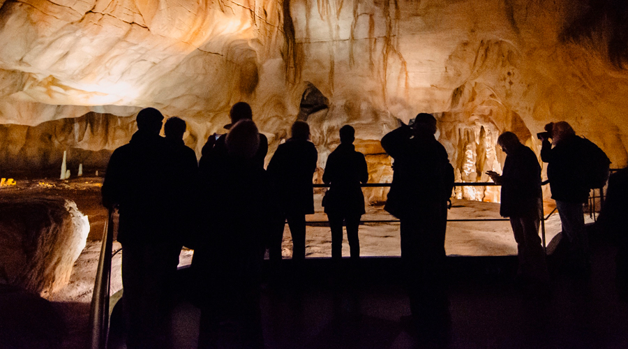
{"label": "dark coat of the leftmost silhouetted person, beside the slanting handrail", "polygon": [[119,242],[169,239],[172,168],[172,148],[164,138],[146,131],[137,131],[113,152],[102,193],[105,207],[119,205]]}

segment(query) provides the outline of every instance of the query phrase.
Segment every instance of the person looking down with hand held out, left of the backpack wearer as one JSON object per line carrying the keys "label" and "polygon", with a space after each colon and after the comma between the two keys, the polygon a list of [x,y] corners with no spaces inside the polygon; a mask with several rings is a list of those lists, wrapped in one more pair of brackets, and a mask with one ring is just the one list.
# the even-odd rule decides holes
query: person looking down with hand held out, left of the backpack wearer
{"label": "person looking down with hand held out, left of the backpack wearer", "polygon": [[525,283],[539,286],[539,291],[544,291],[549,283],[549,274],[539,237],[541,166],[534,151],[521,144],[512,132],[502,133],[498,145],[506,153],[502,175],[493,171],[486,174],[502,186],[500,214],[510,218],[517,242],[517,275]]}

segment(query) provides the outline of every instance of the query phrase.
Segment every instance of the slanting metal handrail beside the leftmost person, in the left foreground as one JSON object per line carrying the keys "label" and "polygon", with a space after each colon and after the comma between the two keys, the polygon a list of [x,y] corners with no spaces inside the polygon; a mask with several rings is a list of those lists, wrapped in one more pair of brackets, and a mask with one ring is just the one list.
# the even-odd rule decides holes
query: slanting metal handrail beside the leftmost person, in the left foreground
{"label": "slanting metal handrail beside the leftmost person, in the left foreground", "polygon": [[91,349],[107,348],[107,332],[109,332],[109,293],[111,285],[111,260],[114,230],[117,224],[114,215],[117,209],[109,210],[109,218],[105,222],[103,244],[100,246],[100,258],[96,281],[94,281],[94,294],[91,297],[91,311],[89,320],[91,323]]}

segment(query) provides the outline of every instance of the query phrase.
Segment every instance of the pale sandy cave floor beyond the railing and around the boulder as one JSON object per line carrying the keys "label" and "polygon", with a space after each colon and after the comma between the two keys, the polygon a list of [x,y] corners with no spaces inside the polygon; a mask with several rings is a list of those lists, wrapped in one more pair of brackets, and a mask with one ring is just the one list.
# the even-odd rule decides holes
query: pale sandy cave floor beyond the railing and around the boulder
{"label": "pale sandy cave floor beyond the railing and around the boulder", "polygon": [[[100,239],[103,234],[107,211],[100,205],[101,177],[79,177],[68,181],[58,179],[17,180],[17,185],[0,188],[1,195],[54,195],[76,202],[83,214],[89,217],[90,232],[87,246],[75,262],[70,283],[65,288],[49,297],[53,305],[66,318],[68,341],[66,348],[82,348],[89,341],[87,328],[89,302],[91,302],[94,276],[100,253]],[[315,194],[316,213],[308,215],[308,221],[327,221],[322,212],[320,202],[322,193]],[[474,202],[453,200],[454,207],[449,211],[449,219],[461,218],[500,218],[499,205],[491,202]],[[367,213],[362,216],[367,220],[389,220],[394,217],[383,211],[381,205],[367,205]],[[546,214],[549,213],[546,209]],[[398,223],[364,223],[360,226],[361,255],[398,256],[399,234]],[[546,221],[547,242],[560,231],[558,215]],[[329,227],[313,223],[307,228],[308,258],[324,258],[331,255],[331,235]],[[448,255],[514,255],[516,243],[507,221],[498,222],[450,222],[447,225],[447,241],[445,244]],[[114,242],[114,251],[120,248]],[[343,241],[343,255],[348,255],[349,246]],[[283,255],[290,258],[292,242],[290,230],[285,228]],[[120,262],[122,253],[117,253],[112,261],[111,292],[121,289]],[[193,251],[181,251],[181,266],[188,265]],[[404,301],[405,302],[405,301]]]}

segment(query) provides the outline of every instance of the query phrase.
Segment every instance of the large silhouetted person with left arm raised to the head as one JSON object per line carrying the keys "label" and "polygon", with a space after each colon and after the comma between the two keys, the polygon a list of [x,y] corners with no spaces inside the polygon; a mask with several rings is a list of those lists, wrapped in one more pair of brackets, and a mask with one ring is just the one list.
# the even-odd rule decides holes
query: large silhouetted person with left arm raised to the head
{"label": "large silhouetted person with left arm raised to the head", "polygon": [[434,138],[436,119],[421,113],[414,120],[412,127],[402,124],[382,138],[382,147],[394,158],[384,209],[401,221],[401,259],[412,320],[440,328],[449,322],[444,239],[454,170]]}

